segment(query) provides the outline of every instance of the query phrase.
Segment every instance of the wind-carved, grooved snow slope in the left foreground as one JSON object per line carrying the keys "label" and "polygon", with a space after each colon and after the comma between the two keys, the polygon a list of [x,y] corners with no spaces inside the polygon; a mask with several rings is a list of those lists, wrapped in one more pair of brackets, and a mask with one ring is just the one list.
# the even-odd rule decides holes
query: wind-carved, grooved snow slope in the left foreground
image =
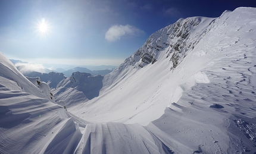
{"label": "wind-carved, grooved snow slope in the left foreground", "polygon": [[55,104],[2,53],[0,70],[0,153],[74,152],[78,125],[87,122]]}

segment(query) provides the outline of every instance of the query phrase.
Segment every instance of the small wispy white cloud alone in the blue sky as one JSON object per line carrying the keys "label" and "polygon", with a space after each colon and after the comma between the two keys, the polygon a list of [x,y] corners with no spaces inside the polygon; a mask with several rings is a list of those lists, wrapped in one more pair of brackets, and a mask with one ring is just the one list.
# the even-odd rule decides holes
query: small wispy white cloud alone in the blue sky
{"label": "small wispy white cloud alone in the blue sky", "polygon": [[114,25],[105,33],[105,39],[110,42],[115,42],[116,40],[120,40],[123,36],[138,35],[141,33],[144,32],[134,26],[130,26],[129,24],[126,24],[126,26]]}

